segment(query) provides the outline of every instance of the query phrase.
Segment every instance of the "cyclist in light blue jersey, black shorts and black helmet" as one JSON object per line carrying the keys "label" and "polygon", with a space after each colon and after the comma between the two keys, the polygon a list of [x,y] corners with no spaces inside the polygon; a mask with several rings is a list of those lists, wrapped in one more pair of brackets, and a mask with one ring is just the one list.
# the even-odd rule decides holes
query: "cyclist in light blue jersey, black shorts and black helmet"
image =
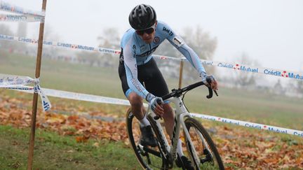
{"label": "cyclist in light blue jersey, black shorts and black helmet", "polygon": [[[147,146],[156,146],[156,139],[152,127],[146,118],[143,99],[151,105],[152,111],[164,119],[166,132],[173,134],[173,109],[161,96],[168,94],[168,86],[152,57],[152,53],[164,41],[168,40],[192,66],[198,71],[203,82],[213,90],[217,90],[217,81],[213,76],[206,74],[199,57],[194,50],[184,43],[168,24],[157,20],[156,12],[152,6],[140,4],[131,10],[128,17],[130,26],[121,39],[121,55],[119,62],[119,77],[124,94],[132,108],[132,113],[140,121],[142,140],[140,143]],[[206,78],[211,83],[206,82]],[[163,114],[165,113],[165,114]],[[190,161],[182,153],[181,140],[177,143],[177,166],[183,162],[187,169],[193,169]]]}

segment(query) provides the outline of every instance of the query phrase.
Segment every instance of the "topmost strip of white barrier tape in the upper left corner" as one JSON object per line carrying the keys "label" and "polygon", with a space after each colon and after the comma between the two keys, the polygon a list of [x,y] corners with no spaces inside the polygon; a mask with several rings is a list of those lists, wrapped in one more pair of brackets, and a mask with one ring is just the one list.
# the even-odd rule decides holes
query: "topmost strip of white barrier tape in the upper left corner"
{"label": "topmost strip of white barrier tape in the upper left corner", "polygon": [[45,12],[34,12],[32,10],[25,10],[21,7],[18,6],[13,6],[9,3],[6,3],[4,1],[0,1],[0,10],[4,10],[7,12],[11,12],[11,13],[18,13],[18,14],[22,14],[22,15],[32,15],[32,16],[41,16],[41,17],[45,17]]}

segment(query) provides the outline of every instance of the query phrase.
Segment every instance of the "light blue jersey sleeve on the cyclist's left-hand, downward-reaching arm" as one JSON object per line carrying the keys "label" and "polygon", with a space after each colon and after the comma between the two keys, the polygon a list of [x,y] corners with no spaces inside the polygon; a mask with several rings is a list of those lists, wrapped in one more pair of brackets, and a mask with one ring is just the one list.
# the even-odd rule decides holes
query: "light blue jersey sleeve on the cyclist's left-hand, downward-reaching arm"
{"label": "light blue jersey sleeve on the cyclist's left-hand, downward-reaching arm", "polygon": [[128,87],[135,93],[140,95],[140,97],[146,99],[149,92],[144,88],[144,86],[137,79],[137,61],[135,57],[136,46],[128,41],[123,48],[124,66],[126,69],[126,78],[128,82]]}

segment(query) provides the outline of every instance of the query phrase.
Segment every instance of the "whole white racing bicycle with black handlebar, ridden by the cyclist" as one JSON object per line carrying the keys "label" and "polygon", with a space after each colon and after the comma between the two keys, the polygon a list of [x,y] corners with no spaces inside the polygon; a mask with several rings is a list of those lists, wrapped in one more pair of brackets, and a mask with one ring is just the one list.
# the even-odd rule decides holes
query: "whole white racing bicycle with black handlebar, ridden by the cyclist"
{"label": "whole white racing bicycle with black handlebar, ridden by the cyclist", "polygon": [[[128,109],[126,114],[128,139],[143,169],[173,168],[173,164],[177,159],[177,141],[180,138],[181,127],[183,130],[182,138],[184,138],[187,149],[187,152],[184,152],[184,154],[187,154],[187,157],[190,158],[191,164],[194,165],[195,169],[224,169],[221,157],[210,135],[201,125],[201,122],[191,117],[186,106],[184,106],[183,99],[186,92],[201,85],[204,85],[204,83],[198,82],[182,89],[174,89],[162,97],[163,101],[168,100],[176,106],[175,125],[173,127],[173,139],[170,141],[171,144],[168,143],[168,135],[163,132],[159,117],[151,111],[149,106],[147,109],[147,119],[152,125],[158,146],[142,146],[139,142],[141,138],[139,121],[136,118],[134,119],[131,109]],[[207,98],[210,99],[213,97],[213,90],[208,87],[208,92]],[[215,94],[217,95],[216,91]],[[183,96],[182,99],[181,96]],[[182,169],[184,169],[184,166]]]}

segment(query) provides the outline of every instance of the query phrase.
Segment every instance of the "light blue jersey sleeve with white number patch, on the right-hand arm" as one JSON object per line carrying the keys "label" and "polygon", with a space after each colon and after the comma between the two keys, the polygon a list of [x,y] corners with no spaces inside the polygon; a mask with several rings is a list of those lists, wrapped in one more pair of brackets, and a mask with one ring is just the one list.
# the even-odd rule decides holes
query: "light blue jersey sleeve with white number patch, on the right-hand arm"
{"label": "light blue jersey sleeve with white number patch, on the right-hand arm", "polygon": [[196,52],[189,48],[189,46],[184,42],[184,40],[178,36],[173,29],[171,29],[168,24],[161,23],[162,34],[166,39],[179,50],[184,57],[191,63],[192,66],[198,71],[199,75],[202,76],[206,74],[206,71],[201,63],[200,58],[196,55]]}

